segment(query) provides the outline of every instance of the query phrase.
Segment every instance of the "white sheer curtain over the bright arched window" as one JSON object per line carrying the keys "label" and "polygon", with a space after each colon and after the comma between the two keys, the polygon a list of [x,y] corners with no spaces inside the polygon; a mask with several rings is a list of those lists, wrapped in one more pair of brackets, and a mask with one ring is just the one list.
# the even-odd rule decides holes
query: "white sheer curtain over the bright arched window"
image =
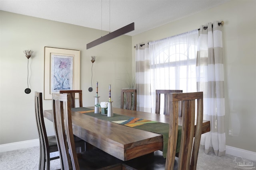
{"label": "white sheer curtain over the bright arched window", "polygon": [[156,89],[196,92],[197,43],[197,29],[149,43],[153,113]]}

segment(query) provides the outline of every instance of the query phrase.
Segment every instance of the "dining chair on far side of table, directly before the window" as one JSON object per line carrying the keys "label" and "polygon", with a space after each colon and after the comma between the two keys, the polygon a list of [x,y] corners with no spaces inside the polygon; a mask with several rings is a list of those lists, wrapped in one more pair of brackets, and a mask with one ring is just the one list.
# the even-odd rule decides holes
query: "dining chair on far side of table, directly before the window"
{"label": "dining chair on far side of table, directly before the window", "polygon": [[169,112],[167,107],[167,94],[170,93],[182,93],[182,90],[156,90],[156,114],[160,114],[161,94],[164,94],[164,115]]}

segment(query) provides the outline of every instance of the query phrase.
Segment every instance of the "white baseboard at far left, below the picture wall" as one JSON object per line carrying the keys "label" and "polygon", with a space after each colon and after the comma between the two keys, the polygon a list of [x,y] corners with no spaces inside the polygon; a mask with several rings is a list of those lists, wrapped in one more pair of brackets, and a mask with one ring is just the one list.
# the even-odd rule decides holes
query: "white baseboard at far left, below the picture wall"
{"label": "white baseboard at far left, below the picture wall", "polygon": [[39,139],[14,142],[14,143],[6,143],[6,144],[0,145],[0,152],[7,152],[11,150],[25,149],[25,148],[37,147],[37,146],[39,146]]}

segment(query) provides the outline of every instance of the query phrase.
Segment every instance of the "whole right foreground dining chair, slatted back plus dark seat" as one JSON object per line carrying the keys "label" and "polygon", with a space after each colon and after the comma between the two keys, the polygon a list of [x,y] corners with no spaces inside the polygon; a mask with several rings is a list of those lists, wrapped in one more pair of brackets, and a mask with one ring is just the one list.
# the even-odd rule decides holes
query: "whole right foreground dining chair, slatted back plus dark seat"
{"label": "whole right foreground dining chair, slatted back plus dark seat", "polygon": [[[166,158],[158,150],[150,159],[139,157],[124,162],[123,170],[196,170],[202,133],[203,92],[167,94],[167,101],[170,106],[170,129]],[[182,101],[182,134],[179,157],[175,157],[179,101]]]}

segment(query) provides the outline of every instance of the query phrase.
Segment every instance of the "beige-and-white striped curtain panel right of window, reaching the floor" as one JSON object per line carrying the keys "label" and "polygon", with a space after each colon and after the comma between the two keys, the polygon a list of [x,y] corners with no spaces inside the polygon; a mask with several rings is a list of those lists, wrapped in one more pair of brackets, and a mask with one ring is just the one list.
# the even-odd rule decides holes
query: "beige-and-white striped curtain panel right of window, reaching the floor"
{"label": "beige-and-white striped curtain panel right of window, reaching the floor", "polygon": [[204,92],[204,119],[211,123],[211,131],[202,135],[200,144],[206,154],[213,151],[218,156],[226,152],[221,29],[218,21],[201,25],[196,61],[197,90]]}

